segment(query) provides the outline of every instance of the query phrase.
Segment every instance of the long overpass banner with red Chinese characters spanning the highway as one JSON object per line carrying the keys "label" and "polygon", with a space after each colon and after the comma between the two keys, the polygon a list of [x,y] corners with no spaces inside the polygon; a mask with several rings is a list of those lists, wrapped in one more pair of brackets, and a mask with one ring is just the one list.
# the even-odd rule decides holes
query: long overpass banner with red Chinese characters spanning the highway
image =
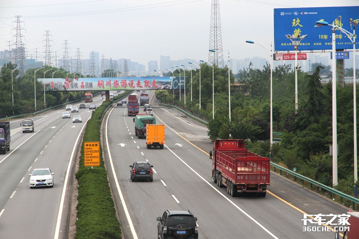
{"label": "long overpass banner with red Chinese characters spanning the highway", "polygon": [[176,89],[176,81],[173,82],[173,77],[38,78],[37,80],[45,85],[46,91]]}

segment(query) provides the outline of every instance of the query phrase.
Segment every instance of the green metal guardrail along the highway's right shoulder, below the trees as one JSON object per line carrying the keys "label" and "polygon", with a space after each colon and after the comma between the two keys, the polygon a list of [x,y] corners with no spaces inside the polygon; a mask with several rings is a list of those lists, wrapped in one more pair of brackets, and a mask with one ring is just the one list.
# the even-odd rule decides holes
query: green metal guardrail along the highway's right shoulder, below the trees
{"label": "green metal guardrail along the highway's right shoulder, below the trees", "polygon": [[[188,114],[186,111],[178,108],[177,106],[174,106],[174,105],[167,105],[167,104],[162,104],[162,103],[158,103],[159,105],[163,105],[163,106],[167,106],[167,107],[173,107],[173,108],[176,108],[180,111],[182,111],[183,113],[186,113],[187,115],[190,115]],[[191,117],[194,117],[192,115],[190,115]],[[194,117],[196,119],[198,119],[197,117]],[[199,119],[200,121],[202,121],[203,123],[207,124],[208,125],[208,122],[204,121],[204,120],[201,120]],[[217,139],[220,139],[220,138],[217,138]],[[345,194],[345,193],[342,193],[338,190],[335,190],[334,188],[331,188],[331,187],[328,187],[327,185],[324,185],[320,182],[317,182],[317,181],[314,181],[312,180],[311,178],[308,178],[308,177],[305,177],[303,175],[300,175],[299,173],[296,173],[296,172],[293,172],[292,170],[288,169],[288,168],[284,168],[276,163],[273,163],[273,162],[270,162],[270,165],[274,168],[274,172],[276,172],[276,168],[279,169],[279,173],[280,175],[282,175],[282,172],[286,172],[287,173],[287,177],[288,177],[288,174],[290,175],[293,175],[294,177],[294,181],[297,179],[297,178],[300,178],[302,180],[302,183],[304,184],[304,181],[306,182],[309,182],[310,183],[310,187],[312,188],[313,185],[319,187],[319,188],[323,188],[324,190],[328,191],[329,192],[329,197],[331,198],[332,197],[332,193],[334,193],[335,195],[338,195],[340,196],[340,202],[342,203],[343,202],[343,198],[351,201],[352,203],[352,209],[355,210],[355,204],[359,204],[359,199],[355,198],[355,197],[352,197],[348,194]]]}

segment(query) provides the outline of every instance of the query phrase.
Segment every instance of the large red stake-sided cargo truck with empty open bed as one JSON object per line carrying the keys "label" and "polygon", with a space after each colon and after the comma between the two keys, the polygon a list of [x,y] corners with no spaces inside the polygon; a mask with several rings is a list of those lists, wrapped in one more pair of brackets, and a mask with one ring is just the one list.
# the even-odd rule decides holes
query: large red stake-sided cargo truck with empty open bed
{"label": "large red stake-sided cargo truck with empty open bed", "polygon": [[244,148],[243,139],[216,139],[212,177],[219,187],[227,186],[227,193],[236,197],[244,193],[256,193],[265,197],[270,185],[270,159]]}

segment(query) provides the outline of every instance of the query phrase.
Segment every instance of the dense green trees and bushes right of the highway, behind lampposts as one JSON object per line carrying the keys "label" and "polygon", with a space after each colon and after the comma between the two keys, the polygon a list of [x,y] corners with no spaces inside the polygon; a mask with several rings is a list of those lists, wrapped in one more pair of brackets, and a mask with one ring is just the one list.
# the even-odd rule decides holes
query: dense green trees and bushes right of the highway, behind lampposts
{"label": "dense green trees and bushes right of the highway, behind lampposts", "polygon": [[[320,79],[331,75],[330,66],[314,63],[311,72],[298,70],[298,112],[294,105],[294,71],[290,65],[273,69],[273,132],[281,133],[281,142],[273,144],[273,162],[325,185],[332,185],[332,87]],[[346,72],[353,73],[353,69]],[[190,72],[186,72],[186,76]],[[172,73],[170,75],[172,76]],[[175,76],[179,76],[176,72]],[[183,76],[183,73],[182,73]],[[199,109],[199,70],[186,77],[184,91],[157,93],[165,104],[176,105],[209,122],[209,135],[216,138],[246,139],[246,147],[262,156],[270,156],[270,66],[264,70],[247,69],[230,76],[231,121],[228,107],[228,68],[214,67],[214,119],[212,118],[212,67],[201,64],[201,110]],[[160,92],[157,91],[157,92]],[[357,94],[358,95],[358,94]],[[358,97],[358,96],[357,96]],[[357,99],[358,100],[358,99]],[[358,109],[357,109],[358,110]],[[338,178],[335,188],[354,195],[353,158],[353,85],[337,86],[337,135],[339,144]],[[359,133],[359,132],[358,132]]]}

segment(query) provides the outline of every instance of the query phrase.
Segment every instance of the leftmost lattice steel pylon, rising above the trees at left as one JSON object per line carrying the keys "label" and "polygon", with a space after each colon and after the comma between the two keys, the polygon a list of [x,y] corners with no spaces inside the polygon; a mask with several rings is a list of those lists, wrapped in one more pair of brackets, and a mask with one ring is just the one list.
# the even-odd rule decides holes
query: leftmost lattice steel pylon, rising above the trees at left
{"label": "leftmost lattice steel pylon, rising above the trees at left", "polygon": [[[13,63],[17,64],[18,67],[22,66],[22,68],[19,69],[20,76],[24,75],[24,63],[26,60],[26,51],[25,51],[25,44],[22,42],[23,35],[21,34],[21,30],[24,30],[24,28],[21,27],[21,23],[24,21],[20,20],[21,16],[16,16],[16,21],[13,21],[16,23],[16,27],[13,28],[13,30],[16,30],[16,34],[13,36],[15,37],[15,42],[12,44],[15,46],[14,54],[13,55]],[[9,52],[10,54],[10,52]]]}

